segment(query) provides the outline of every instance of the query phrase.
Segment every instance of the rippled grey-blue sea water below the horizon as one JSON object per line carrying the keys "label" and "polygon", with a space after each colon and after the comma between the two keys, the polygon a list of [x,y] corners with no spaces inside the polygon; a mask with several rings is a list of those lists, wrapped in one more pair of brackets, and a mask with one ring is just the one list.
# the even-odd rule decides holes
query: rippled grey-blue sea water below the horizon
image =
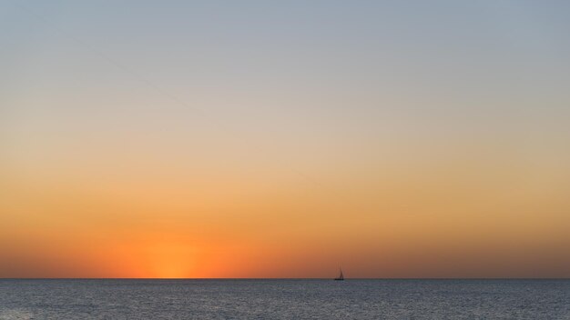
{"label": "rippled grey-blue sea water below the horizon", "polygon": [[570,280],[0,279],[0,319],[570,319]]}

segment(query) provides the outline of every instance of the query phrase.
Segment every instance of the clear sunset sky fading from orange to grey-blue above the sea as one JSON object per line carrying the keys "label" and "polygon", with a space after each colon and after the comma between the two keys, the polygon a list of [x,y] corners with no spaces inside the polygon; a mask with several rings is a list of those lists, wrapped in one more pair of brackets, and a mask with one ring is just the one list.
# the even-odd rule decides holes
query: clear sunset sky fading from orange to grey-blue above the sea
{"label": "clear sunset sky fading from orange to grey-blue above the sea", "polygon": [[565,1],[0,2],[0,277],[570,277]]}

